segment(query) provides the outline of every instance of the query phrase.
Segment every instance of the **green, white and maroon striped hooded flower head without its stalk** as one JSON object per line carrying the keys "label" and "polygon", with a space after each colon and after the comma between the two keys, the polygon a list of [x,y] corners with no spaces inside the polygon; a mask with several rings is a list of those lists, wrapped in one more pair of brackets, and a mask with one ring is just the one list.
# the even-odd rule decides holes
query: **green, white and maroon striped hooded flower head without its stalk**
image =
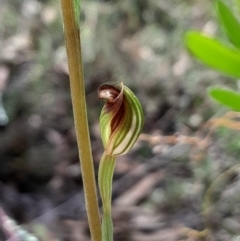
{"label": "green, white and maroon striped hooded flower head without its stalk", "polygon": [[99,99],[106,101],[100,115],[100,129],[105,152],[111,156],[127,153],[143,127],[142,106],[123,83],[106,83],[98,89]]}

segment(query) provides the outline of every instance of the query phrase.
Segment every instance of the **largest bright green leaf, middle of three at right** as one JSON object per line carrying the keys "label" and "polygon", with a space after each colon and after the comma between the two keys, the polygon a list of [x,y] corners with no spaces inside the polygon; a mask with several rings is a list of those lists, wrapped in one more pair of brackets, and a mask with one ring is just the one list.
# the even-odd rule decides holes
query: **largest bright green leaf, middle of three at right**
{"label": "largest bright green leaf, middle of three at right", "polygon": [[204,64],[227,75],[240,78],[239,51],[196,31],[189,31],[186,34],[185,43],[188,50]]}

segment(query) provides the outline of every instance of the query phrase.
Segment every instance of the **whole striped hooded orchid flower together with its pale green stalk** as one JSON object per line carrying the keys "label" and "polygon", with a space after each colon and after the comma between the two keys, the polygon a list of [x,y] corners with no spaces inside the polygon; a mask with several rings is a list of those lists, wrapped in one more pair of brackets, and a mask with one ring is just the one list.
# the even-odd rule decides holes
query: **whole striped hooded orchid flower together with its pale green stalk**
{"label": "whole striped hooded orchid flower together with its pale green stalk", "polygon": [[111,196],[116,156],[131,150],[141,133],[144,118],[139,100],[123,83],[101,85],[98,97],[105,100],[100,115],[101,137],[105,151],[98,174],[103,204],[102,241],[112,241]]}

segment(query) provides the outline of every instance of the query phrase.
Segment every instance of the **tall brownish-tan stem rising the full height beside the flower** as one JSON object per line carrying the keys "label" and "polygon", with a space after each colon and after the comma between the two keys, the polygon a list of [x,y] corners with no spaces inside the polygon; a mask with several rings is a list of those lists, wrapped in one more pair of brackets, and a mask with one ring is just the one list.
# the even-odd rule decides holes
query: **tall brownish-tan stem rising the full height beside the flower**
{"label": "tall brownish-tan stem rising the full height beside the flower", "polygon": [[73,115],[82,170],[89,228],[92,240],[101,241],[101,223],[86,111],[80,31],[75,18],[74,0],[62,0],[62,12],[68,56]]}

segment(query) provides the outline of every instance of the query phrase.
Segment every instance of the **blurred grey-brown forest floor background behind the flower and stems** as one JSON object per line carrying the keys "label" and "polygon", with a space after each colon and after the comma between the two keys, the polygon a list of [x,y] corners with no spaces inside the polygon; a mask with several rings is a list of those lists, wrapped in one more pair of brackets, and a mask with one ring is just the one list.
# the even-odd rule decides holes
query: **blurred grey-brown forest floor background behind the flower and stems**
{"label": "blurred grey-brown forest floor background behind the flower and stems", "polygon": [[[0,240],[16,240],[4,210],[35,240],[88,241],[60,1],[0,3]],[[191,29],[226,42],[214,1],[82,0],[96,170],[99,85],[123,81],[146,118],[133,150],[117,160],[115,241],[240,240],[240,136],[219,124],[236,116],[207,96],[211,85],[236,82],[191,58]]]}

